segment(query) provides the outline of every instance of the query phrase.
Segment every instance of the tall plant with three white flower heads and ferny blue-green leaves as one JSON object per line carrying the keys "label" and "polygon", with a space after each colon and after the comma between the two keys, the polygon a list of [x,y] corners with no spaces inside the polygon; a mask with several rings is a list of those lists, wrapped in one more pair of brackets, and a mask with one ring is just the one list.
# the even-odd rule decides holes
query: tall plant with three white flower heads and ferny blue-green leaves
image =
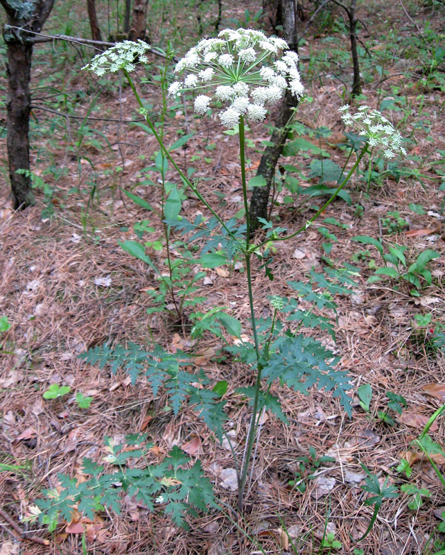
{"label": "tall plant with three white flower heads and ferny blue-green leaves", "polygon": [[[301,228],[295,230],[293,233],[279,237],[279,233],[284,231],[283,228],[273,230],[272,223],[265,221],[265,228],[269,228],[270,226],[272,228],[272,235],[266,237],[260,244],[258,244],[258,241],[251,242],[250,212],[246,179],[247,164],[245,160],[245,119],[250,119],[250,121],[254,122],[263,121],[267,113],[266,107],[282,99],[286,90],[297,98],[302,96],[304,87],[301,83],[297,67],[299,60],[297,53],[286,50],[288,49],[286,41],[277,37],[266,37],[261,31],[242,28],[236,31],[226,29],[225,31],[221,31],[216,38],[204,39],[198,42],[196,46],[193,46],[193,48],[186,53],[184,58],[177,62],[175,67],[175,73],[178,75],[178,79],[168,87],[169,96],[175,98],[186,91],[196,93],[194,108],[199,114],[205,114],[210,108],[211,102],[218,101],[224,106],[219,114],[220,121],[223,125],[228,128],[238,125],[239,160],[241,167],[241,188],[243,191],[243,203],[245,208],[245,225],[243,224],[236,227],[233,219],[225,222],[223,217],[213,210],[209,202],[200,193],[198,183],[192,181],[189,176],[186,176],[177,165],[177,162],[172,156],[172,151],[174,148],[178,148],[178,145],[184,144],[184,142],[175,142],[173,146],[167,148],[163,142],[162,131],[159,132],[159,126],[151,120],[146,105],[144,105],[137,91],[137,87],[134,85],[129,75],[134,69],[134,60],[136,59],[134,56],[138,56],[141,61],[146,61],[144,52],[147,49],[149,49],[149,47],[145,43],[118,44],[114,49],[110,49],[96,56],[96,58],[91,60],[88,67],[99,75],[106,71],[118,71],[118,69],[122,69],[123,74],[128,78],[130,87],[132,87],[134,96],[141,109],[140,112],[146,120],[147,126],[144,127],[147,128],[149,133],[152,133],[152,135],[156,137],[161,148],[161,151],[157,154],[157,160],[159,160],[159,163],[157,162],[157,168],[166,167],[167,164],[164,164],[164,161],[168,161],[177,171],[183,184],[193,191],[194,196],[207,207],[213,216],[208,224],[200,217],[193,222],[188,221],[185,217],[183,217],[181,221],[175,221],[175,219],[169,217],[166,214],[167,211],[164,210],[166,206],[166,196],[163,189],[162,219],[165,224],[166,237],[168,237],[170,226],[174,226],[175,229],[182,230],[184,233],[194,232],[194,234],[191,235],[191,240],[195,237],[209,237],[209,241],[206,246],[204,246],[204,255],[200,259],[200,264],[202,265],[209,264],[208,259],[204,259],[206,254],[212,257],[211,264],[213,264],[215,257],[218,264],[221,259],[231,260],[234,252],[242,253],[244,256],[253,343],[247,345],[248,342],[243,342],[241,337],[241,322],[236,318],[225,314],[224,322],[222,319],[220,320],[221,324],[226,327],[230,334],[241,339],[242,348],[238,348],[239,345],[235,345],[236,348],[238,348],[237,356],[239,356],[239,359],[249,364],[252,363],[256,367],[253,386],[244,388],[243,390],[247,393],[248,397],[250,397],[252,414],[250,416],[250,425],[248,427],[245,451],[241,463],[238,463],[234,447],[232,443],[230,443],[229,436],[222,427],[224,421],[222,411],[224,401],[220,401],[218,395],[224,395],[227,390],[227,382],[218,382],[218,384],[216,384],[218,386],[216,389],[213,388],[211,391],[203,389],[202,393],[200,393],[200,389],[195,388],[193,390],[193,395],[191,395],[191,403],[197,404],[199,410],[202,411],[202,415],[204,415],[203,418],[205,422],[212,427],[212,429],[216,430],[218,438],[222,438],[223,434],[225,434],[229,442],[236,467],[238,510],[241,512],[243,509],[243,495],[247,487],[250,461],[252,454],[254,455],[254,441],[256,435],[259,434],[259,429],[261,429],[259,411],[266,407],[275,407],[276,409],[276,407],[279,406],[277,400],[274,400],[269,393],[270,384],[272,384],[274,379],[279,378],[281,383],[288,383],[297,391],[302,392],[306,392],[307,388],[315,383],[328,390],[335,390],[333,395],[340,398],[344,408],[349,413],[349,416],[351,416],[350,398],[346,393],[349,388],[351,388],[351,385],[348,383],[347,376],[342,370],[337,371],[333,368],[336,363],[333,354],[329,350],[324,349],[324,347],[316,341],[305,338],[302,334],[286,332],[285,336],[280,336],[283,326],[279,323],[278,313],[281,310],[288,311],[288,306],[290,307],[290,305],[286,305],[286,299],[278,296],[272,297],[271,307],[273,309],[273,316],[272,321],[270,323],[268,322],[266,326],[269,327],[268,333],[264,332],[265,328],[263,325],[259,325],[254,306],[254,291],[252,288],[252,257],[263,257],[261,254],[261,247],[269,243],[270,237],[272,237],[274,241],[288,241],[308,228],[311,223],[322,214],[326,207],[333,202],[342,187],[349,181],[365,153],[369,152],[369,146],[383,145],[385,146],[385,151],[387,151],[386,156],[391,157],[389,151],[392,153],[403,152],[401,137],[390,125],[390,122],[385,120],[379,112],[365,107],[355,116],[351,116],[348,112],[349,107],[343,107],[341,110],[343,112],[342,119],[344,122],[347,123],[347,125],[360,125],[362,133],[367,135],[367,142],[358,154],[347,176],[342,178],[343,173],[341,174],[338,187],[333,191],[331,198],[329,198],[329,200],[320,207],[320,210],[318,210],[309,221],[304,223]],[[284,51],[282,56],[279,55],[280,51]],[[167,69],[165,69],[165,71],[167,71]],[[163,89],[163,93],[164,91],[165,89]],[[163,101],[165,106],[165,94],[163,96]],[[352,152],[353,150],[351,149],[350,155]],[[349,158],[347,162],[348,161]],[[162,183],[164,184],[164,170],[162,170]],[[180,204],[177,189],[173,189],[173,191],[176,191],[177,198],[172,198],[172,200],[175,200],[175,205],[177,205],[177,203]],[[170,199],[171,196],[168,198]],[[146,205],[145,200],[141,202],[141,205]],[[176,214],[179,210],[180,208],[178,208]],[[125,248],[125,250],[128,250],[128,252],[135,257],[152,265],[150,258],[145,253],[144,246],[134,241],[130,241],[130,243],[131,245]],[[223,252],[225,251],[226,257],[211,252],[216,250],[216,248]],[[265,262],[263,266],[267,266],[267,262]],[[171,273],[171,275],[173,275],[173,273]],[[219,315],[224,314],[221,311],[218,311],[218,313]],[[159,353],[153,355],[155,364],[152,368],[155,368],[157,375],[160,375],[162,370],[159,368],[158,358],[162,359]],[[146,357],[145,353],[144,360],[147,359],[148,357]],[[168,364],[172,364],[170,355],[166,355],[165,360],[167,359]],[[177,368],[181,366],[179,361],[174,364],[177,364]],[[149,375],[149,373],[146,373],[146,376]],[[195,383],[196,379],[195,376],[193,376],[191,378],[193,381],[187,382],[188,378],[184,377],[186,374],[182,370],[180,370],[177,375],[181,376],[180,379],[183,379],[185,384],[183,393],[179,395],[175,393],[179,399],[181,395],[184,397],[189,394],[191,391],[189,384]],[[175,377],[174,379],[177,378]],[[169,374],[168,380],[172,380],[172,382],[168,381],[166,383],[173,384],[174,379],[171,378]],[[264,380],[268,382],[267,391],[262,390]],[[173,387],[176,387],[176,385],[172,386],[171,391],[173,391]],[[178,410],[179,406],[180,401],[177,401]],[[279,411],[279,413],[281,413],[281,411]],[[165,500],[164,494],[158,495],[155,499],[155,503],[161,504],[165,502]]]}

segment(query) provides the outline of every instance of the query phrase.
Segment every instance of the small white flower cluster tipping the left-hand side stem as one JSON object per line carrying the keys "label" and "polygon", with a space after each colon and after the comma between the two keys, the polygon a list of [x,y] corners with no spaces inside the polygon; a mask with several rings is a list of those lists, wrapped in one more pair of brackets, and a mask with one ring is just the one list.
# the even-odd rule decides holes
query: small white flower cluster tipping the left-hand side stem
{"label": "small white flower cluster tipping the left-hand side stem", "polygon": [[105,52],[94,56],[91,62],[82,69],[89,69],[98,76],[116,73],[119,69],[133,71],[135,67],[134,60],[137,56],[140,62],[148,64],[148,59],[145,56],[147,50],[150,50],[150,44],[143,42],[143,40],[137,42],[124,40],[105,50]]}

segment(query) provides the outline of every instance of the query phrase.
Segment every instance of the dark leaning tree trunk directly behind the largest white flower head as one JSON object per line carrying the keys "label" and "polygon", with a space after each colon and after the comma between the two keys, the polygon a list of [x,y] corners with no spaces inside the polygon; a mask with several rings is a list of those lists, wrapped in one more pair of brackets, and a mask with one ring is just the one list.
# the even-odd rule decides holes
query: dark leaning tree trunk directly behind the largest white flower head
{"label": "dark leaning tree trunk directly behind the largest white flower head", "polygon": [[[289,48],[295,52],[298,50],[297,39],[297,6],[296,0],[281,0],[281,12],[283,15],[283,37],[289,45]],[[270,141],[273,146],[266,146],[261,156],[257,176],[265,178],[266,185],[264,187],[254,187],[252,189],[252,197],[250,198],[249,216],[252,230],[259,228],[259,218],[267,219],[268,203],[270,195],[270,187],[275,178],[275,168],[278,159],[283,151],[288,136],[287,123],[293,115],[293,108],[298,105],[298,99],[292,96],[289,91],[281,103],[281,108],[275,128]]]}

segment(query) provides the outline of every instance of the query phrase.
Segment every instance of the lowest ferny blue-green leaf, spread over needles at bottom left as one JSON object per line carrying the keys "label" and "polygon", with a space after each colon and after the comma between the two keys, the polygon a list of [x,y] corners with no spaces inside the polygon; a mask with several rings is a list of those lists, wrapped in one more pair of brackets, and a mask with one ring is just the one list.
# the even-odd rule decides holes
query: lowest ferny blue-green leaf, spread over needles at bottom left
{"label": "lowest ferny blue-green leaf, spread over needles at bottom left", "polygon": [[[125,443],[115,445],[105,438],[108,454],[104,461],[112,471],[105,472],[105,466],[83,459],[82,474],[89,476],[85,481],[59,474],[60,488],[44,490],[44,499],[37,499],[40,522],[54,531],[61,519],[71,522],[75,509],[91,520],[105,507],[119,515],[125,493],[135,496],[148,511],[162,506],[177,526],[187,529],[185,513],[196,515],[196,511],[214,506],[211,483],[202,475],[200,462],[192,465],[176,446],[161,463],[148,463],[146,457],[152,445],[141,446],[144,441],[145,436],[127,436]],[[143,468],[135,468],[130,459],[144,461]]]}

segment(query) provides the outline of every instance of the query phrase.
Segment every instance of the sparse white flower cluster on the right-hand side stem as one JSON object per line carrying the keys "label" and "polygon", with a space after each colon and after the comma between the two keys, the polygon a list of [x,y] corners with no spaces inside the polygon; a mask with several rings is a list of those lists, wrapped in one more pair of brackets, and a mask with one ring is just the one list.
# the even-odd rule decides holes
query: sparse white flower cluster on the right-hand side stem
{"label": "sparse white flower cluster on the right-hand side stem", "polygon": [[368,138],[369,146],[383,148],[385,158],[394,158],[398,154],[406,155],[402,146],[402,136],[394,129],[392,123],[381,112],[372,110],[369,106],[360,106],[354,115],[349,113],[349,105],[338,110],[342,114],[342,121],[346,126],[353,126],[360,135]]}

